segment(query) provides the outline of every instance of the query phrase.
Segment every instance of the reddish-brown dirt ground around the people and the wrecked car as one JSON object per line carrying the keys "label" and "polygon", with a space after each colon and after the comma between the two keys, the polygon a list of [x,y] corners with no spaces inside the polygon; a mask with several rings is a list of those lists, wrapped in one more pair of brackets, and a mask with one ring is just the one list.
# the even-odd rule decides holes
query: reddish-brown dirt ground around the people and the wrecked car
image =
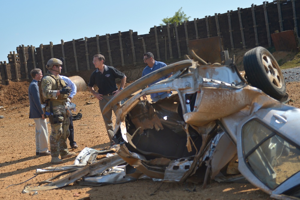
{"label": "reddish-brown dirt ground around the people and the wrecked car", "polygon": [[[90,74],[81,75],[89,77]],[[0,119],[0,199],[271,199],[268,194],[250,183],[215,181],[205,189],[202,184],[161,183],[152,180],[104,186],[81,186],[73,183],[60,189],[40,191],[36,195],[22,194],[25,186],[38,186],[41,181],[58,174],[39,174],[34,177],[37,168],[59,166],[50,163],[51,156],[35,156],[35,124],[28,118],[29,84],[30,81],[25,80],[10,82],[9,86],[0,85],[0,106],[5,107],[0,109],[0,116],[4,116]],[[290,105],[300,108],[300,83],[287,83],[286,86],[292,99]],[[71,149],[68,144],[69,150],[78,155],[85,147],[97,150],[108,147],[109,138],[97,99],[85,91],[77,92],[73,102],[76,104],[76,113],[81,110],[82,119],[73,121],[74,139],[79,148]],[[51,131],[50,124],[48,130]],[[103,156],[98,156],[97,159],[100,160],[101,157]],[[60,165],[72,165],[74,159],[75,157],[65,159]],[[21,184],[7,188],[18,183]]]}

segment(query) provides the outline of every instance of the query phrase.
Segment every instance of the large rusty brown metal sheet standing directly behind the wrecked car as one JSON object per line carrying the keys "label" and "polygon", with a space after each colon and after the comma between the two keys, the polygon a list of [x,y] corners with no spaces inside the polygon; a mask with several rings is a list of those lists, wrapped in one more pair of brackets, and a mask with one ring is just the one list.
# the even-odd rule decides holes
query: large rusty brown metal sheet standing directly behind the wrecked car
{"label": "large rusty brown metal sheet standing directly behind the wrecked car", "polygon": [[224,51],[223,37],[202,38],[188,41],[189,49],[207,63],[221,63],[220,52]]}

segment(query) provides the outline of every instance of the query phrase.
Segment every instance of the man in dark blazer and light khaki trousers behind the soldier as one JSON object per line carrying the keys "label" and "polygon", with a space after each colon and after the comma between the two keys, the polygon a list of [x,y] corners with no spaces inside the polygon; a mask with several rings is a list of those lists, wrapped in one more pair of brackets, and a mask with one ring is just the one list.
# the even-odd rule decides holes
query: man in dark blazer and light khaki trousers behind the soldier
{"label": "man in dark blazer and light khaki trousers behind the soldier", "polygon": [[30,71],[30,75],[33,80],[28,88],[30,105],[29,118],[35,121],[35,155],[49,156],[51,153],[48,151],[48,127],[46,118],[44,117],[44,105],[40,102],[38,89],[38,81],[42,79],[43,74],[41,69],[34,68]]}

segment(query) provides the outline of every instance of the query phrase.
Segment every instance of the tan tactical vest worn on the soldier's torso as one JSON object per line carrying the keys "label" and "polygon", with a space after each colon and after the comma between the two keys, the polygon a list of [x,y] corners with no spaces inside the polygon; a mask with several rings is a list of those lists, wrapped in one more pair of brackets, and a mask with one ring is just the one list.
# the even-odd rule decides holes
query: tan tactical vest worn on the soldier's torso
{"label": "tan tactical vest worn on the soldier's torso", "polygon": [[[54,76],[53,74],[49,73],[49,71],[44,74],[44,77],[46,76],[51,76],[52,77],[52,87],[51,90],[61,90],[63,87],[67,86],[66,82],[64,82],[64,80],[61,79],[61,77],[59,76]],[[44,78],[43,77],[43,78]],[[43,91],[41,89],[41,81],[38,81],[38,89],[40,92],[40,102],[41,104],[45,104],[49,101],[56,101],[56,102],[64,102],[66,100],[66,98],[68,98],[69,95],[67,94],[60,94],[57,96],[57,99],[55,98],[48,98],[46,99],[43,95]]]}

